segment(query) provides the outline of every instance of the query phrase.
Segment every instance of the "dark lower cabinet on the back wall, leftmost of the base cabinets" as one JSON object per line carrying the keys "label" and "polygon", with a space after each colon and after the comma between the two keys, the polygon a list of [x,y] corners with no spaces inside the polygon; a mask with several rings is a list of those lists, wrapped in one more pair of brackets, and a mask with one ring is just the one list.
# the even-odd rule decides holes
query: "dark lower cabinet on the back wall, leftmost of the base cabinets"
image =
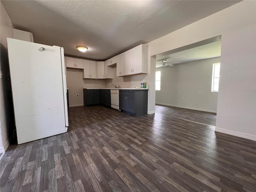
{"label": "dark lower cabinet on the back wall, leftmost of the base cabinets", "polygon": [[84,89],[84,106],[100,104],[99,89]]}

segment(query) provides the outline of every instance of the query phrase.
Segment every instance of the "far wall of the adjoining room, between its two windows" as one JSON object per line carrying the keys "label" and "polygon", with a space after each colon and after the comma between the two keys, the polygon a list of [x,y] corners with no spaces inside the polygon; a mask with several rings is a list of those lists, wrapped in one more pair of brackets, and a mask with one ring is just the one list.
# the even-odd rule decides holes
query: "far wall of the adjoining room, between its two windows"
{"label": "far wall of the adjoining room, between its two windows", "polygon": [[212,64],[219,62],[217,57],[157,68],[161,72],[161,90],[156,91],[156,103],[217,112],[218,92],[212,92],[211,86]]}

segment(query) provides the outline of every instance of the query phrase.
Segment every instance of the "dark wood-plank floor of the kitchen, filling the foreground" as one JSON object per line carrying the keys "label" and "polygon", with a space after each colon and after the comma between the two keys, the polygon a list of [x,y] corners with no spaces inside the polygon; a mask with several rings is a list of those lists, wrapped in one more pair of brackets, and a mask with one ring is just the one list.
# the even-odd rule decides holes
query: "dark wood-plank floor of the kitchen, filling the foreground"
{"label": "dark wood-plank floor of the kitchen, filling the foreground", "polygon": [[0,190],[256,191],[256,142],[173,118],[169,109],[134,117],[103,106],[70,108],[67,133],[9,146]]}

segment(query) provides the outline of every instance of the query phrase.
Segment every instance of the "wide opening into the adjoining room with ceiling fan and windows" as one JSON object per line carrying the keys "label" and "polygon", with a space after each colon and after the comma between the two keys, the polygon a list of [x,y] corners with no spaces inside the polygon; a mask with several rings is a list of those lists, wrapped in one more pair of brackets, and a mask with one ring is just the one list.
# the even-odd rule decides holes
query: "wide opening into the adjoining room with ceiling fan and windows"
{"label": "wide opening into the adjoining room with ceiling fan and windows", "polygon": [[156,113],[216,126],[221,35],[156,55]]}

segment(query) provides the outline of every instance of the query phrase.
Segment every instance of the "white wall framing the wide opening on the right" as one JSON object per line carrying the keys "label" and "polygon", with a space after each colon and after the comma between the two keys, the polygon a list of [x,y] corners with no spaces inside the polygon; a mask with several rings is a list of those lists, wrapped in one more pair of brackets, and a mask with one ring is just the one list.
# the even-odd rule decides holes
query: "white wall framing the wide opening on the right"
{"label": "white wall framing the wide opening on the right", "polygon": [[[222,35],[216,131],[256,140],[256,1],[242,1],[150,43],[149,56]],[[150,60],[150,81],[155,62]],[[152,88],[152,86],[151,86]],[[154,92],[149,110],[154,110]]]}

